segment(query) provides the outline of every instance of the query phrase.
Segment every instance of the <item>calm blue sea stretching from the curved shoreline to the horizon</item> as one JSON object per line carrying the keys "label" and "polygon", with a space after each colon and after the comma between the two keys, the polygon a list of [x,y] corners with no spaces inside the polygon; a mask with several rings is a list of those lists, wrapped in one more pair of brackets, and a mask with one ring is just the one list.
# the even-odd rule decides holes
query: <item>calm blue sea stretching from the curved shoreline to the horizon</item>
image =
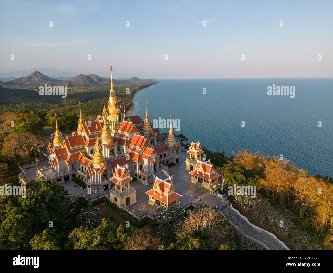
{"label": "calm blue sea stretching from the curved shoreline to the horizon", "polygon": [[[277,86],[294,94],[268,95]],[[134,115],[145,117],[146,101],[151,122],[172,113],[189,143],[226,156],[283,155],[311,175],[333,175],[333,78],[159,80],[136,93]]]}

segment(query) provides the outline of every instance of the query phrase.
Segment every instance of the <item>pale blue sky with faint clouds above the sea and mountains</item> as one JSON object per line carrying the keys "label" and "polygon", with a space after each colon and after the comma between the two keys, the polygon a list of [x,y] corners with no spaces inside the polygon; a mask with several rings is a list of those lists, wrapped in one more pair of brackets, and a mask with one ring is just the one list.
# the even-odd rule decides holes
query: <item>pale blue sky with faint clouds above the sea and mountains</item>
{"label": "pale blue sky with faint clouds above the sea and mountains", "polygon": [[0,72],[109,76],[112,64],[116,78],[332,77],[332,10],[333,1],[0,1]]}

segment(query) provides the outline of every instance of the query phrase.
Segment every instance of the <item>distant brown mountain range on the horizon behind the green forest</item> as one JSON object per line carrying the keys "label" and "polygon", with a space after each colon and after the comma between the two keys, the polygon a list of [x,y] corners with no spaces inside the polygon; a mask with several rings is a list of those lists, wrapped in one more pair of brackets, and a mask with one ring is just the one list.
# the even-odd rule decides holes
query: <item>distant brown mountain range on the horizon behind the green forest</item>
{"label": "distant brown mountain range on the horizon behind the green forest", "polygon": [[[142,81],[137,77],[129,78],[128,80],[121,81],[121,82],[137,82]],[[151,80],[148,80],[152,82]],[[119,83],[120,81],[113,80],[114,83]],[[145,81],[147,82],[147,81]],[[102,85],[102,84],[110,84],[110,78],[103,78],[96,74],[89,74],[89,75],[77,75],[73,78],[71,77],[49,77],[42,74],[39,71],[34,71],[30,75],[26,77],[15,78],[4,78],[0,79],[1,86],[24,86],[24,85],[58,85],[58,86],[95,86],[95,85]]]}

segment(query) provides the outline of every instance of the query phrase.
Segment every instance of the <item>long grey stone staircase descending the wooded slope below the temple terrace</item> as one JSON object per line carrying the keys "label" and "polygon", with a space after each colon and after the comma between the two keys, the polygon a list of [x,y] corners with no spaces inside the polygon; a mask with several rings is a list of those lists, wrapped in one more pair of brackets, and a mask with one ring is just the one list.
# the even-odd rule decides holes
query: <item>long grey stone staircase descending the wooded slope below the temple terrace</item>
{"label": "long grey stone staircase descending the wooded slope below the temple terrace", "polygon": [[228,218],[231,224],[236,226],[243,235],[247,235],[261,243],[264,243],[269,250],[285,250],[280,244],[273,240],[270,236],[260,233],[254,230],[248,223],[246,223],[242,218],[240,218],[233,210],[227,206],[223,206],[221,209],[221,214]]}

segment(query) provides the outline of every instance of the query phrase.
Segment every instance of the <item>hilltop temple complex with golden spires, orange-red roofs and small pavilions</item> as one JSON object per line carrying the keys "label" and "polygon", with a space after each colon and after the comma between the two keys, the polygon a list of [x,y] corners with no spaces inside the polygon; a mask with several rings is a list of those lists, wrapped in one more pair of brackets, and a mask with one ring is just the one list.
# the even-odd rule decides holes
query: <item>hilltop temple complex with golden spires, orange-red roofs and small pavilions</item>
{"label": "hilltop temple complex with golden spires, orange-red roofs and small pavilions", "polygon": [[[86,184],[84,190],[89,194],[107,194],[118,207],[137,202],[131,182],[138,181],[153,185],[146,192],[146,201],[152,207],[179,204],[182,195],[175,192],[173,177],[168,172],[168,166],[181,162],[172,114],[166,140],[149,119],[148,102],[144,120],[140,116],[126,116],[113,85],[112,66],[110,69],[108,104],[101,105],[102,113],[96,121],[83,119],[79,102],[77,130],[63,138],[55,115],[56,129],[47,146],[52,177],[46,178],[59,183],[78,178]],[[185,169],[191,175],[191,182],[200,188],[215,188],[220,174],[209,160],[205,161],[200,142],[191,142],[187,153]],[[37,178],[45,179],[42,170],[37,170]]]}

